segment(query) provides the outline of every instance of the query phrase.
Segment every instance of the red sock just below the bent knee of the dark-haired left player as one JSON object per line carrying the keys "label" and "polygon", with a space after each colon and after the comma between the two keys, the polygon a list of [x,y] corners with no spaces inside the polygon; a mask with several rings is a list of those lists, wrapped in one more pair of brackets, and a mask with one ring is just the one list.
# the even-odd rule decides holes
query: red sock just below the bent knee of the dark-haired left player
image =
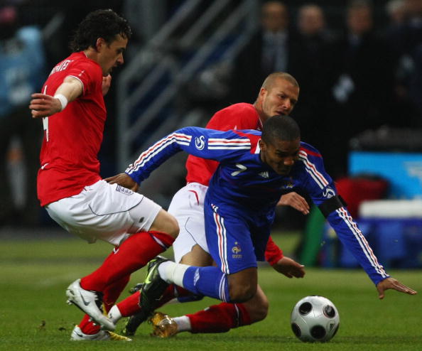
{"label": "red sock just below the bent knee of the dark-haired left player", "polygon": [[113,282],[123,279],[145,266],[173,244],[173,237],[161,232],[132,234],[92,274],[81,279],[86,290],[101,291]]}

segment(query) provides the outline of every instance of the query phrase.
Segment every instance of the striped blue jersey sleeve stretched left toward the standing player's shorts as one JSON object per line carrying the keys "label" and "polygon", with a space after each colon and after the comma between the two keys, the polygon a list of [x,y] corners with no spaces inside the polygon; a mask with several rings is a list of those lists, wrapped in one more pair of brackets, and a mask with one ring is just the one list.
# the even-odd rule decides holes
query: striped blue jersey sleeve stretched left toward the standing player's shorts
{"label": "striped blue jersey sleeve stretched left toward the standing player's shorts", "polygon": [[216,131],[188,126],[157,141],[156,144],[141,153],[139,158],[126,168],[125,172],[136,183],[141,183],[161,163],[179,151],[221,162],[234,157],[239,150],[250,150],[250,148],[250,139],[247,136],[240,136],[234,131]]}

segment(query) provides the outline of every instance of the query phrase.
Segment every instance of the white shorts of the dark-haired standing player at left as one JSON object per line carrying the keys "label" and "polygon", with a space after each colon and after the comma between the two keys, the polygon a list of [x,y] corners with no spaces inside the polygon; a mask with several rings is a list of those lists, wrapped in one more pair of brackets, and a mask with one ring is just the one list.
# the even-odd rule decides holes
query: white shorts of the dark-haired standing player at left
{"label": "white shorts of the dark-haired standing player at left", "polygon": [[99,180],[45,209],[61,227],[87,242],[102,239],[118,245],[130,234],[148,231],[161,206],[121,185]]}

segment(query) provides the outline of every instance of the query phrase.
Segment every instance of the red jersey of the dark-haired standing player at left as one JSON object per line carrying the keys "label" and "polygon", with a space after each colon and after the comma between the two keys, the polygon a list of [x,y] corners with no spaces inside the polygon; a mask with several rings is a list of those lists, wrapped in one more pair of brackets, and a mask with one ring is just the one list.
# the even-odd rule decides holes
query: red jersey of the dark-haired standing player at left
{"label": "red jersey of the dark-haired standing player at left", "polygon": [[85,53],[72,53],[50,72],[43,94],[55,95],[67,76],[80,80],[83,92],[62,112],[43,118],[44,140],[37,180],[42,206],[79,194],[86,185],[101,179],[97,154],[107,117],[102,69]]}

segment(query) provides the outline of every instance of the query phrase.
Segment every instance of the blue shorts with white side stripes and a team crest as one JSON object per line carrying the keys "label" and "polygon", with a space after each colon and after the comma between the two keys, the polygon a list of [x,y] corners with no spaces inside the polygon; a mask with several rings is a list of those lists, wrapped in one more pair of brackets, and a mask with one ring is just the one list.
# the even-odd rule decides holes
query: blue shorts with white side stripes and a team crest
{"label": "blue shorts with white side stripes and a team crest", "polygon": [[205,202],[205,235],[212,259],[225,274],[256,267],[264,260],[271,223],[256,226],[238,209]]}

